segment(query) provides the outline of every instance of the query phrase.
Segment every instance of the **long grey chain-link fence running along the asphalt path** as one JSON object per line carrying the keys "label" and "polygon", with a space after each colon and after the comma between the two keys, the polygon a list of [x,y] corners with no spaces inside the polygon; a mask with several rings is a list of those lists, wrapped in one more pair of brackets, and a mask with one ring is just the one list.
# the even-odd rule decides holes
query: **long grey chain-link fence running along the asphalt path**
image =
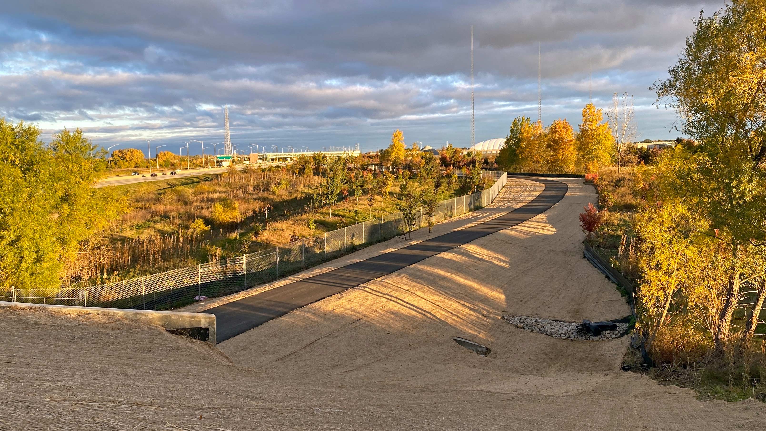
{"label": "long grey chain-link fence running along the asphalt path", "polygon": [[[460,216],[493,202],[503,186],[506,173],[486,171],[495,180],[489,189],[439,202],[434,222]],[[428,216],[417,213],[415,229],[427,225]],[[216,297],[242,291],[304,268],[326,262],[375,242],[407,231],[401,212],[346,226],[323,237],[303,239],[290,245],[260,252],[178,268],[106,285],[61,289],[32,288],[0,291],[0,301],[35,304],[83,305],[90,307],[160,310],[180,307],[198,296]]]}

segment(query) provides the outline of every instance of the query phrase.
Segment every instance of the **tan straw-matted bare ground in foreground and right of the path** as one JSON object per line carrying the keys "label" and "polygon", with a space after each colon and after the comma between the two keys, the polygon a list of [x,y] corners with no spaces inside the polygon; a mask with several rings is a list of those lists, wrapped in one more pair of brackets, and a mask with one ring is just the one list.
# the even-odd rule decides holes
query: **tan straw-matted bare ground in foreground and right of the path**
{"label": "tan straw-matted bare ground in foreground and right of the path", "polygon": [[499,318],[629,313],[582,258],[577,215],[594,190],[565,181],[568,195],[529,222],[220,350],[125,321],[0,310],[0,429],[764,428],[763,403],[701,402],[620,371],[625,339],[565,341]]}

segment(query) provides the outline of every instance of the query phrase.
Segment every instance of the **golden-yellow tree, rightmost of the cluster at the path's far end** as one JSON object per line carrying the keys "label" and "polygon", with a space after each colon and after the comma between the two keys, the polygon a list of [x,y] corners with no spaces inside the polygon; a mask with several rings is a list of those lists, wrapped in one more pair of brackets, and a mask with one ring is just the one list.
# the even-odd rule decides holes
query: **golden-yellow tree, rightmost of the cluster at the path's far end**
{"label": "golden-yellow tree, rightmost of the cluster at the path's far end", "polygon": [[582,110],[582,123],[578,131],[577,162],[578,169],[594,173],[599,168],[608,166],[611,161],[612,132],[609,123],[602,123],[604,114],[593,104],[587,104]]}

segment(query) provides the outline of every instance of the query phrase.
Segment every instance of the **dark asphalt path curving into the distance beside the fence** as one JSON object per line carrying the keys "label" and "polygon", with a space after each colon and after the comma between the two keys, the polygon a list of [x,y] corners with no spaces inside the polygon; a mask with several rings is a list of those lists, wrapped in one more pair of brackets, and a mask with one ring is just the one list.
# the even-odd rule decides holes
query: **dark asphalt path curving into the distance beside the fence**
{"label": "dark asphalt path curving into the distance beside the fence", "polygon": [[545,189],[529,203],[495,219],[449,232],[423,242],[377,255],[320,275],[254,294],[247,298],[202,311],[215,314],[217,342],[250,331],[271,319],[283,316],[308,304],[328,298],[349,288],[421,262],[426,258],[502,229],[508,229],[542,214],[565,196],[568,186],[553,179],[529,179],[545,185]]}

